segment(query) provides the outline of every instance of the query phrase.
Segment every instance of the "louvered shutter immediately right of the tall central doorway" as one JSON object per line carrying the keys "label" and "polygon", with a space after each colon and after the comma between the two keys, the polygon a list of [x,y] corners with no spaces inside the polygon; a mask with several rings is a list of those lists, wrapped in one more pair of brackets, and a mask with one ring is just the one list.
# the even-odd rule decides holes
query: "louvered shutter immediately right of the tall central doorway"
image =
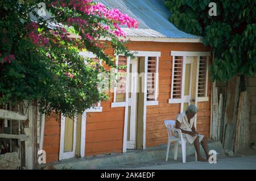
{"label": "louvered shutter immediately right of the tall central doorway", "polygon": [[147,61],[147,100],[155,100],[156,57]]}

